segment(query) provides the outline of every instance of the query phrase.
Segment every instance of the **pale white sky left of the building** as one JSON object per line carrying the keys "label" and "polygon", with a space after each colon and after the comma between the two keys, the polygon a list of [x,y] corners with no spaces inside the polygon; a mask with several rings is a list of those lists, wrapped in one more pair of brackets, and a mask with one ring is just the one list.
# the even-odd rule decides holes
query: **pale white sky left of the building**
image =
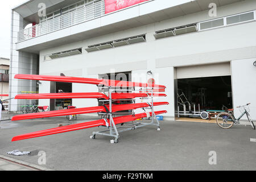
{"label": "pale white sky left of the building", "polygon": [[1,1],[0,9],[0,57],[10,58],[11,9],[26,0]]}

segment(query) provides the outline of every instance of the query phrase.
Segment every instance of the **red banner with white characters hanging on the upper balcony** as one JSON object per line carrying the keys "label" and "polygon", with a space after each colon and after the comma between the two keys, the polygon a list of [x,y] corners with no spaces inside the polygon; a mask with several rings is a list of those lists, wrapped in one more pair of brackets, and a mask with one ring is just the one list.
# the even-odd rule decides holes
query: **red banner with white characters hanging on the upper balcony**
{"label": "red banner with white characters hanging on the upper balcony", "polygon": [[148,0],[105,0],[105,14]]}

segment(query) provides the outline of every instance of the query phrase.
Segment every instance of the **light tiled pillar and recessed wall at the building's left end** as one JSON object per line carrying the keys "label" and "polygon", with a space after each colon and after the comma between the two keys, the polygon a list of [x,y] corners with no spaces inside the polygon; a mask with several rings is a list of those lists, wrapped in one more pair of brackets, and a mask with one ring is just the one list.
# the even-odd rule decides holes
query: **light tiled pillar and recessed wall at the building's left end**
{"label": "light tiled pillar and recessed wall at the building's left end", "polygon": [[[36,81],[32,80],[18,80],[14,76],[16,74],[36,74],[36,65],[38,55],[22,51],[16,51],[15,43],[18,40],[18,31],[24,27],[22,16],[15,11],[12,11],[11,17],[11,55],[10,55],[10,78],[9,78],[9,97],[14,98],[17,94],[23,92],[35,92]],[[20,105],[28,104],[27,100],[10,100],[9,111],[20,110]]]}

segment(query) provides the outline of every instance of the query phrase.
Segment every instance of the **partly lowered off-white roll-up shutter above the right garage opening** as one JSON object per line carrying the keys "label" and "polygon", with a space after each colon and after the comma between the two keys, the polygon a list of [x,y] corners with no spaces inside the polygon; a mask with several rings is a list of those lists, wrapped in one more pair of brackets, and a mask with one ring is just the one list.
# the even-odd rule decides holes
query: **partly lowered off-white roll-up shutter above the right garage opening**
{"label": "partly lowered off-white roll-up shutter above the right garage opening", "polygon": [[213,76],[230,76],[230,63],[177,67],[177,78],[200,78]]}

